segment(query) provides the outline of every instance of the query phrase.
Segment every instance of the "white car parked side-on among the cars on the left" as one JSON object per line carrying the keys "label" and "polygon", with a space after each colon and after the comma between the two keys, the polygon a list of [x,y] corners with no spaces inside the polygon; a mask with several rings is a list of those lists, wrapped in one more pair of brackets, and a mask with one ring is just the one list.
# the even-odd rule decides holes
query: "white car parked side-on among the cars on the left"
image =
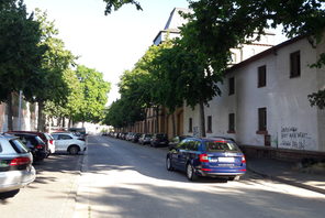
{"label": "white car parked side-on among the cars on the left", "polygon": [[70,154],[78,154],[86,151],[85,139],[76,137],[70,132],[55,132],[52,133],[55,140],[56,152],[69,152]]}

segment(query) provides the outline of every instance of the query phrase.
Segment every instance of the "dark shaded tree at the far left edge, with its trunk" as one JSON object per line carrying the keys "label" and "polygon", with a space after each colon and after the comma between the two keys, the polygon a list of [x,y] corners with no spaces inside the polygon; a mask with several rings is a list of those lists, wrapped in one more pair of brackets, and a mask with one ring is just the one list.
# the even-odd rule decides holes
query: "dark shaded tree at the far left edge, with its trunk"
{"label": "dark shaded tree at the far left edge, with its trunk", "polygon": [[24,90],[38,74],[42,55],[40,23],[29,15],[23,0],[0,2],[0,101],[8,103],[8,129],[12,130],[12,92]]}

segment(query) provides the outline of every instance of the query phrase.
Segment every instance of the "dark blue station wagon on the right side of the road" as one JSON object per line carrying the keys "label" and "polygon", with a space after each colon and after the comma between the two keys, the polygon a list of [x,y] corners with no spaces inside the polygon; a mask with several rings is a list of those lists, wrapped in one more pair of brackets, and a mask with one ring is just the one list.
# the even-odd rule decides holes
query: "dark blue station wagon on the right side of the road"
{"label": "dark blue station wagon on the right side of the road", "polygon": [[232,140],[188,138],[168,152],[166,167],[184,171],[190,181],[198,176],[233,181],[245,174],[246,160]]}

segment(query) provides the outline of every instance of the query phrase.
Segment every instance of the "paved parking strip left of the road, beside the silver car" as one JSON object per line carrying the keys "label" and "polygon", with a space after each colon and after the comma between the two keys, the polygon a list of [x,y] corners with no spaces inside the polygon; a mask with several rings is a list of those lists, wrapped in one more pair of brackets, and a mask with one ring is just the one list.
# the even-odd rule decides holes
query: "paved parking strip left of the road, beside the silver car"
{"label": "paved parking strip left of the road, beside the silver car", "polygon": [[13,197],[0,200],[0,217],[70,218],[83,155],[54,154],[34,163],[36,179]]}

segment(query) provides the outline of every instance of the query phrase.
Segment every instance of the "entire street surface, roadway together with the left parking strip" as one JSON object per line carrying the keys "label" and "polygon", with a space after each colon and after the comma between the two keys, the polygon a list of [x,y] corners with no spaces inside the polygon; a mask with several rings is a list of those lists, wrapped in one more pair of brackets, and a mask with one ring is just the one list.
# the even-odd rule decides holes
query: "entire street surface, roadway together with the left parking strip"
{"label": "entire street surface, roadway together with the left parking strip", "polygon": [[88,137],[85,155],[56,154],[37,163],[36,181],[0,201],[1,217],[324,217],[325,195],[249,172],[238,182],[188,182],[165,168],[166,152]]}

